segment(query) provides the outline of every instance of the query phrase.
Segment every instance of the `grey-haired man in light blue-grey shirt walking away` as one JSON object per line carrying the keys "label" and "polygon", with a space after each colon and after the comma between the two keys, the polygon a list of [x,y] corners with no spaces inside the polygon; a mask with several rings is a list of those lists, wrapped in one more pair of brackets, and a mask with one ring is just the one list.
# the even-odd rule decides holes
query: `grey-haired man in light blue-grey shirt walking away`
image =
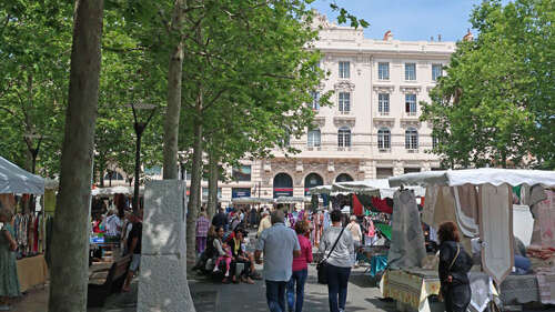
{"label": "grey-haired man in light blue-grey shirt walking away", "polygon": [[293,256],[301,255],[295,231],[285,227],[283,211],[271,215],[272,227],[263,231],[256,244],[254,259],[261,264],[264,252],[264,279],[266,301],[271,312],[285,312],[285,286],[291,279]]}

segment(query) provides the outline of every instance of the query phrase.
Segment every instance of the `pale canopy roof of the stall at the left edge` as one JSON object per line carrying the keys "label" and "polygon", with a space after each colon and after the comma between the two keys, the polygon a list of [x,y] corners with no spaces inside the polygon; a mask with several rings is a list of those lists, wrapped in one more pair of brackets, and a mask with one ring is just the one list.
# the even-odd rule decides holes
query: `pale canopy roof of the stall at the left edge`
{"label": "pale canopy roof of the stall at the left edge", "polygon": [[0,157],[0,194],[44,193],[44,179],[34,175]]}

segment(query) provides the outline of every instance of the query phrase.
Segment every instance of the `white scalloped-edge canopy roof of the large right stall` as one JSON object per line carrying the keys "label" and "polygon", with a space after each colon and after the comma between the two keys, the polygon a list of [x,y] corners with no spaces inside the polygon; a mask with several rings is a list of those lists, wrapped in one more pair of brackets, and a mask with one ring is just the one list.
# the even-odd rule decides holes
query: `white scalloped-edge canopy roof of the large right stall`
{"label": "white scalloped-edge canopy roof of the large right stall", "polygon": [[390,178],[391,187],[458,187],[464,184],[493,184],[498,187],[504,183],[513,187],[521,184],[555,187],[555,171],[482,168],[415,172]]}

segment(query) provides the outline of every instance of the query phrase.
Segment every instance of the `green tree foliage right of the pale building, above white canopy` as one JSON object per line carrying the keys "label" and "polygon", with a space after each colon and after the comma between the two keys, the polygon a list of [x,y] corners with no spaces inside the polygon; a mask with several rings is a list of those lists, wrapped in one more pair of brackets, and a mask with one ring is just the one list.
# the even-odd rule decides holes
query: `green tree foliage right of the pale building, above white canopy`
{"label": "green tree foliage right of the pale building, above white canopy", "polygon": [[423,104],[445,167],[555,168],[555,3],[484,1]]}

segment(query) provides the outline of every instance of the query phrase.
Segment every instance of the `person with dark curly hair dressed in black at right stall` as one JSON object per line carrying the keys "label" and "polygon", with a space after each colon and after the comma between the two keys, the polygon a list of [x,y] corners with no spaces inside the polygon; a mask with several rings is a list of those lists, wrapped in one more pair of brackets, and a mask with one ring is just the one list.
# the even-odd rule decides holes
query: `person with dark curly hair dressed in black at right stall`
{"label": "person with dark curly hair dressed in black at right stall", "polygon": [[454,222],[445,222],[437,231],[440,236],[440,282],[445,300],[445,311],[465,312],[471,303],[468,271],[472,258],[458,243],[458,230]]}

